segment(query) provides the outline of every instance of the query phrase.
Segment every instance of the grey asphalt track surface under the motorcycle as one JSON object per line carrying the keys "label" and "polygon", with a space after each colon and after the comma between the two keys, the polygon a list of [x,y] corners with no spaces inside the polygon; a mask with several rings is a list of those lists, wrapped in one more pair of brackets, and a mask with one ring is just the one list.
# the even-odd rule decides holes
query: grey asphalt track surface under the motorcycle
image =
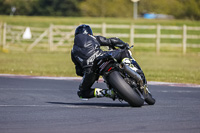
{"label": "grey asphalt track surface under the motorcycle", "polygon": [[156,104],[133,108],[108,98],[83,101],[79,83],[0,76],[0,133],[200,132],[199,87],[150,85]]}

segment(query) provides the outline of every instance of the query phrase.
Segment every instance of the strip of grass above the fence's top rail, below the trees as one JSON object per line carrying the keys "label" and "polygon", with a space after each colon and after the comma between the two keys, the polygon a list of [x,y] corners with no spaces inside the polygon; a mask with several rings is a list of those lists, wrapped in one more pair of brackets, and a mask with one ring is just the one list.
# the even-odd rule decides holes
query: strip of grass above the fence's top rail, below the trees
{"label": "strip of grass above the fence's top rail, below the trees", "polygon": [[199,21],[192,20],[146,20],[131,18],[91,18],[91,17],[45,17],[45,16],[1,16],[0,22],[7,22],[12,25],[35,26],[35,27],[49,27],[49,25],[78,25],[80,23],[101,24],[139,24],[139,25],[174,25],[182,26],[200,26]]}

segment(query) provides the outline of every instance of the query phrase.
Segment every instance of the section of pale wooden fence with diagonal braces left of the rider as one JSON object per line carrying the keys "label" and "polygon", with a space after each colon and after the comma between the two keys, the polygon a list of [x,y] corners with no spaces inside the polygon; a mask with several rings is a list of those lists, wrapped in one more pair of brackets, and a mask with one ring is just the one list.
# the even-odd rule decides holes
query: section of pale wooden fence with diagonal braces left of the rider
{"label": "section of pale wooden fence with diagonal braces left of the rider", "polygon": [[[59,46],[72,44],[74,26],[55,26],[48,28],[30,27],[30,38],[24,38],[24,34],[29,27],[0,24],[0,45],[3,49],[26,50],[48,49],[55,51]],[[2,34],[2,35],[1,35]]]}

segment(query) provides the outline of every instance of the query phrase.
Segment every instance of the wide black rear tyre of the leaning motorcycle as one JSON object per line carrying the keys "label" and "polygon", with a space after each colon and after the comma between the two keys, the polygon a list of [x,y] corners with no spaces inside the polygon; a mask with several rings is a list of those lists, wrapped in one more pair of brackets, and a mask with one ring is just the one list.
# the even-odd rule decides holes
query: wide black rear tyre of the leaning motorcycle
{"label": "wide black rear tyre of the leaning motorcycle", "polygon": [[144,99],[124,81],[119,72],[111,72],[107,79],[114,90],[131,106],[141,107],[144,104]]}

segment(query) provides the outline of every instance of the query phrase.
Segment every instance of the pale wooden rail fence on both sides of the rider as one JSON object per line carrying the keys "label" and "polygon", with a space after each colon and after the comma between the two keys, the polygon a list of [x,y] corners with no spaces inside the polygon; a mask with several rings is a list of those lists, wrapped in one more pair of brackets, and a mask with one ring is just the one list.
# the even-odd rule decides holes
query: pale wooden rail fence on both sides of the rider
{"label": "pale wooden rail fence on both sides of the rider", "polygon": [[[153,46],[159,53],[161,47],[181,47],[185,54],[188,47],[200,48],[200,27],[161,25],[90,24],[96,35],[120,37],[138,46]],[[50,24],[48,28],[30,27],[31,38],[24,38],[27,27],[0,23],[0,45],[3,49],[27,50],[45,48],[49,51],[66,50],[73,44],[77,26]]]}

